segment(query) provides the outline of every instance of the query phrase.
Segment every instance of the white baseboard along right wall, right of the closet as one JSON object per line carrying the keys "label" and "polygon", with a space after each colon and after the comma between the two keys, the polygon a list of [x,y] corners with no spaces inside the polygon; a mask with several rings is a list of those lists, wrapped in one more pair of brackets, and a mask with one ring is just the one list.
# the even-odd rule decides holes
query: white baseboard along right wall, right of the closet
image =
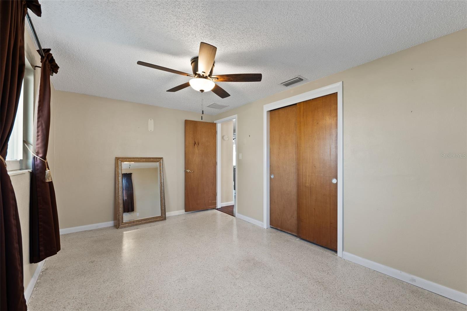
{"label": "white baseboard along right wall, right of the closet", "polygon": [[372,262],[371,260],[361,258],[357,255],[350,254],[347,252],[342,253],[342,258],[351,262],[358,263],[363,267],[367,267],[369,269],[381,272],[385,275],[392,276],[398,280],[401,280],[406,283],[410,283],[412,285],[418,286],[425,290],[429,290],[435,294],[447,297],[449,299],[453,299],[458,301],[462,304],[467,304],[467,294],[462,293],[457,290],[453,290],[443,285],[439,285],[438,283],[434,283],[425,279],[422,279],[418,276],[412,276],[408,273],[399,271],[394,268],[390,268],[388,266],[382,265],[381,263]]}

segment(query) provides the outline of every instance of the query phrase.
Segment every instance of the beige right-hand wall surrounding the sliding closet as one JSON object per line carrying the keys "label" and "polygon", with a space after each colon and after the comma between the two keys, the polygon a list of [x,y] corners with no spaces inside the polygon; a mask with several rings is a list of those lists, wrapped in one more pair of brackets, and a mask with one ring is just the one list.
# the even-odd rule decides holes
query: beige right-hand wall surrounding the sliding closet
{"label": "beige right-hand wall surrounding the sliding closet", "polygon": [[262,221],[262,106],[343,81],[344,251],[467,292],[467,30],[237,114],[238,212]]}

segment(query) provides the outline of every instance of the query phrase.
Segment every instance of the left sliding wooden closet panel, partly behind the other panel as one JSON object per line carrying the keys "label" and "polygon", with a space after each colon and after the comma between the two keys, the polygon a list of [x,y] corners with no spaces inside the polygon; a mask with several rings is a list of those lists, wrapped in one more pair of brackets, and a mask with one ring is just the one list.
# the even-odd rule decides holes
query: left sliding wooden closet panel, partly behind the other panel
{"label": "left sliding wooden closet panel, partly behind the other panel", "polygon": [[297,235],[297,105],[269,112],[269,224]]}

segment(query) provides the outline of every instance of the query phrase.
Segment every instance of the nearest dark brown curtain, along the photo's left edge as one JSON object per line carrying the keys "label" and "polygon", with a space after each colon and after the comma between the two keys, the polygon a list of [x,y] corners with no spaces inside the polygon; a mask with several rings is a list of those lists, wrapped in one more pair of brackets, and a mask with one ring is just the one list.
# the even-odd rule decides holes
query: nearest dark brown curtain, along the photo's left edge
{"label": "nearest dark brown curtain, along the photo's left edge", "polygon": [[[0,1],[0,155],[18,110],[24,77],[24,21],[27,10],[41,16],[35,1]],[[23,285],[21,225],[6,163],[0,163],[0,310],[27,310]]]}

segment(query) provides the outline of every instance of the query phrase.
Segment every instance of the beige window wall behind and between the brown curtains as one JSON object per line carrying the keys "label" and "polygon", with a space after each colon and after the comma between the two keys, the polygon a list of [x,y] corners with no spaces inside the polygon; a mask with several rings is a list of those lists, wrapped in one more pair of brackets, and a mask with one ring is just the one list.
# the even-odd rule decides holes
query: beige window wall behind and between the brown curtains
{"label": "beige window wall behind and between the brown curtains", "polygon": [[[40,66],[41,60],[39,54],[36,52],[34,43],[32,42],[31,37],[28,34],[28,31],[25,31],[24,34],[25,40],[25,55],[29,63],[32,66]],[[29,64],[26,64],[28,66]],[[40,71],[36,70],[34,72],[35,76],[35,92],[37,87],[38,78]],[[36,78],[37,77],[37,78]],[[53,78],[52,78],[53,81]],[[55,169],[55,88],[53,83],[51,84],[50,92],[50,136],[49,136],[49,152],[47,154],[47,162],[49,163],[50,170],[52,171],[52,177],[54,176]],[[28,120],[25,120],[28,121]],[[32,122],[32,119],[29,120]],[[31,125],[32,126],[32,125]],[[32,129],[32,127],[31,127]],[[24,161],[30,162],[31,156],[24,158]],[[29,164],[30,166],[30,164]],[[22,236],[22,246],[23,246],[23,267],[24,267],[24,288],[26,289],[31,281],[32,276],[34,275],[35,270],[37,269],[37,263],[29,263],[29,187],[31,181],[31,174],[29,172],[11,176],[11,182],[13,184],[14,194],[16,196],[16,201],[18,203],[18,212],[20,216],[21,223],[21,236]]]}

